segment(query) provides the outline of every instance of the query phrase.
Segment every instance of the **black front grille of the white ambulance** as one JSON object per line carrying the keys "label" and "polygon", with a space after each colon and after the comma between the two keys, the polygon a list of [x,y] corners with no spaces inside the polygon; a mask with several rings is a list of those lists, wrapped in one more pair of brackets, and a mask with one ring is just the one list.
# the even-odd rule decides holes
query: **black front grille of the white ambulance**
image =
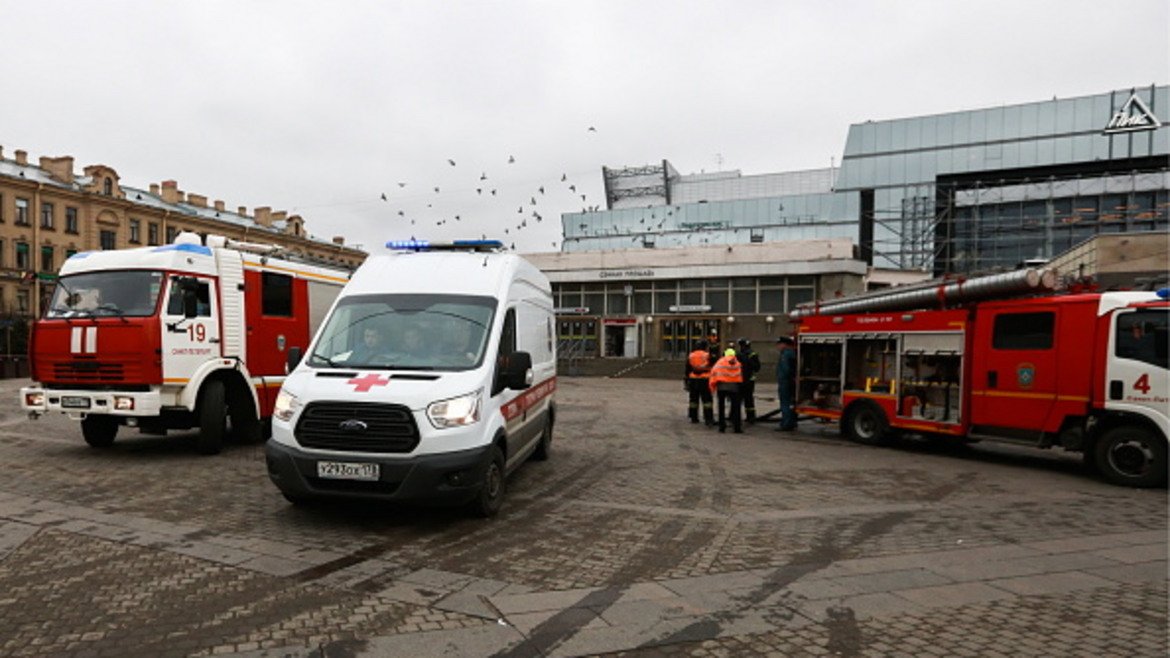
{"label": "black front grille of the white ambulance", "polygon": [[345,452],[405,453],[419,445],[414,414],[400,404],[310,403],[294,436],[304,447]]}

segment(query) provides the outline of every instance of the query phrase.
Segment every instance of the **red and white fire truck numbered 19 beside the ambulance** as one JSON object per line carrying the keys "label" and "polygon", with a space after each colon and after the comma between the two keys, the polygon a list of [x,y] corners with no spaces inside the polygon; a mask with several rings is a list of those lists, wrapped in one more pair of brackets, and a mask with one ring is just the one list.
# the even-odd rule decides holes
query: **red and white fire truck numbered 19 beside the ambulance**
{"label": "red and white fire truck numbered 19 beside the ambulance", "polygon": [[275,253],[181,233],[173,245],[73,255],[33,325],[21,405],[81,420],[94,447],[123,425],[198,427],[206,454],[228,431],[260,439],[288,350],[309,344],[349,279]]}

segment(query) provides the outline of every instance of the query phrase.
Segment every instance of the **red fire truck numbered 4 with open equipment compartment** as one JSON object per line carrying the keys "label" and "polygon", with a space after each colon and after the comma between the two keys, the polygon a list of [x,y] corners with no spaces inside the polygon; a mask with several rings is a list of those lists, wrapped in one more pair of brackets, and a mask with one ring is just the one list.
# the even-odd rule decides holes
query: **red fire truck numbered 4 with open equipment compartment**
{"label": "red fire truck numbered 4 with open equipment compartment", "polygon": [[865,444],[1061,446],[1112,482],[1164,484],[1166,290],[1057,294],[1054,281],[1026,269],[797,309],[797,412]]}

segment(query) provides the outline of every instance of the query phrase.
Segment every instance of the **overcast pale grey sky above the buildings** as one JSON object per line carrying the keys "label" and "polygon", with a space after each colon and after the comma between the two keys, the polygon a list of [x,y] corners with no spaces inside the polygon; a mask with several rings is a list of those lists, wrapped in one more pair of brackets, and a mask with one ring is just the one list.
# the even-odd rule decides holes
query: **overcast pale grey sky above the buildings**
{"label": "overcast pale grey sky above the buildings", "polygon": [[601,165],[821,167],[851,123],[1170,80],[1170,0],[0,0],[0,25],[6,157],[373,251],[553,251]]}

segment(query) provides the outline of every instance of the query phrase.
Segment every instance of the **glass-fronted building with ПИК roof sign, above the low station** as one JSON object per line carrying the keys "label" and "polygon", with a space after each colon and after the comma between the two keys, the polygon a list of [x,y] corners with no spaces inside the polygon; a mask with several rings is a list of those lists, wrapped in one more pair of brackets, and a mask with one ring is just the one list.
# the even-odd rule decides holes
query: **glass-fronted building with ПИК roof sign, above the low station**
{"label": "glass-fronted building with \u041f\u0418\u041a roof sign, above the low station", "polygon": [[876,268],[1012,268],[1096,234],[1165,231],[1162,118],[1166,85],[859,123],[840,167],[796,193],[785,180],[800,172],[605,170],[607,210],[563,215],[562,249],[849,238]]}

